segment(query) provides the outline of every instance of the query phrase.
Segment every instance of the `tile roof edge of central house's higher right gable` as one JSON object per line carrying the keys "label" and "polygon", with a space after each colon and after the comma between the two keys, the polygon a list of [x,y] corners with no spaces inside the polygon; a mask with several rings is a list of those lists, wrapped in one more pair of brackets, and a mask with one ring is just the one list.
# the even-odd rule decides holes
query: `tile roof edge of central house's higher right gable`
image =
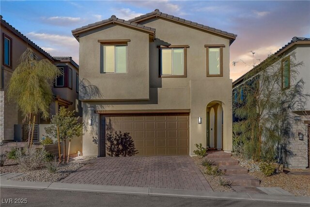
{"label": "tile roof edge of central house's higher right gable", "polygon": [[233,33],[230,33],[230,32],[225,32],[225,31],[222,31],[222,30],[218,30],[216,28],[212,28],[212,27],[205,26],[205,25],[202,25],[202,24],[198,24],[197,22],[192,22],[192,21],[189,21],[189,20],[177,17],[177,16],[168,15],[168,14],[160,12],[158,9],[155,9],[154,12],[147,13],[145,15],[141,15],[141,16],[135,17],[133,19],[129,19],[128,21],[129,22],[136,22],[136,21],[139,21],[140,19],[143,19],[143,18],[146,18],[146,17],[149,17],[149,16],[162,16],[162,17],[165,17],[165,18],[170,18],[170,19],[179,21],[179,22],[187,24],[187,25],[196,26],[196,27],[202,28],[204,30],[209,30],[209,31],[212,31],[212,32],[217,32],[217,33],[221,33],[221,34],[224,34],[224,35],[228,35],[228,36],[231,36],[233,39],[235,39],[237,37],[236,34],[233,34]]}

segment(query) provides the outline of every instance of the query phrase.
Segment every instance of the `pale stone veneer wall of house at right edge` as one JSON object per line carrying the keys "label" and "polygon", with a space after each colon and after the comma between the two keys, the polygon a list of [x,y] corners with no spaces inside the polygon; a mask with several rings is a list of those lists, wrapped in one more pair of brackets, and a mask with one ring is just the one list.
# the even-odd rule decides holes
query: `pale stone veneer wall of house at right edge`
{"label": "pale stone veneer wall of house at right edge", "polygon": [[[297,116],[297,115],[295,115]],[[294,137],[289,141],[288,149],[293,152],[292,156],[286,158],[286,167],[289,168],[306,168],[308,167],[308,128],[304,124],[305,117],[301,120],[294,120],[293,133]],[[298,139],[298,132],[304,134],[304,140]]]}

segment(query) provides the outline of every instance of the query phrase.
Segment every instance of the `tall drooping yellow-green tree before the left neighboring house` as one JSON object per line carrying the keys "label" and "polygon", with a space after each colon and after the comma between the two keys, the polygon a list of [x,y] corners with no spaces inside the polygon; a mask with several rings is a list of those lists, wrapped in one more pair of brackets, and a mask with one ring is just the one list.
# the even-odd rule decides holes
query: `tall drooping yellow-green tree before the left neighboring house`
{"label": "tall drooping yellow-green tree before the left neighboring house", "polygon": [[29,146],[35,115],[40,114],[45,120],[49,118],[50,103],[53,101],[52,84],[59,75],[61,72],[55,65],[47,59],[37,60],[31,48],[27,48],[9,81],[8,98],[16,102],[25,117],[24,121],[29,123]]}

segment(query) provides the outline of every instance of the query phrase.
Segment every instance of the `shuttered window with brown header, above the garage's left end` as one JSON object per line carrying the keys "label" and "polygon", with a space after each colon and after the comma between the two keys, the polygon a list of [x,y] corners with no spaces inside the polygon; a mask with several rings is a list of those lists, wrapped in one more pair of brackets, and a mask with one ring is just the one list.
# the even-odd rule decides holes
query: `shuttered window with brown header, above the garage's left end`
{"label": "shuttered window with brown header, above the garage's left end", "polygon": [[127,73],[127,44],[130,40],[98,40],[100,73]]}

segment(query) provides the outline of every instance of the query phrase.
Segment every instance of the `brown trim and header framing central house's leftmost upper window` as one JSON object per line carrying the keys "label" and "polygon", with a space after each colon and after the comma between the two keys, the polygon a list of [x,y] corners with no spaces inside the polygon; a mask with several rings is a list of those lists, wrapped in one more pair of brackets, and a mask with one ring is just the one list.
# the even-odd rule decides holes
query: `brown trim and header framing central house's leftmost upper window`
{"label": "brown trim and header framing central house's leftmost upper window", "polygon": [[[100,74],[126,74],[128,73],[128,44],[130,40],[98,40],[100,42]],[[116,64],[114,66],[114,72],[104,72],[104,58],[103,58],[103,48],[104,46],[126,46],[126,72],[125,73],[116,73]],[[114,50],[115,52],[116,50]],[[114,61],[116,55],[114,54]]]}

